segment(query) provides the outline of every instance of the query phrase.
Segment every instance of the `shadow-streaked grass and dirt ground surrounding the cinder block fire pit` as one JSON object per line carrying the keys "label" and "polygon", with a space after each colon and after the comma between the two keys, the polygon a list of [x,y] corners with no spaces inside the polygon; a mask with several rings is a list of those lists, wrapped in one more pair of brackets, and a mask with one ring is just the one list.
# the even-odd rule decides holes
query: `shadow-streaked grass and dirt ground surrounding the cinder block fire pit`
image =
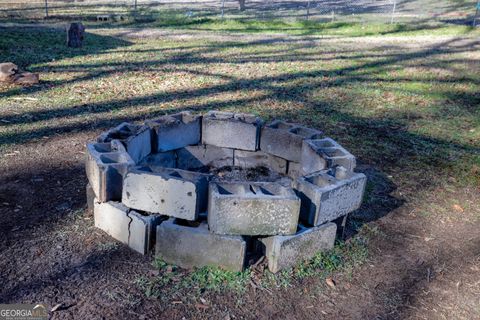
{"label": "shadow-streaked grass and dirt ground surrounding the cinder block fire pit", "polygon": [[[0,29],[0,60],[40,72],[0,87],[0,301],[62,303],[54,319],[480,318],[480,43]],[[209,109],[302,122],[369,177],[368,260],[244,294],[149,298],[158,272],[84,212],[85,142],[123,120]]]}

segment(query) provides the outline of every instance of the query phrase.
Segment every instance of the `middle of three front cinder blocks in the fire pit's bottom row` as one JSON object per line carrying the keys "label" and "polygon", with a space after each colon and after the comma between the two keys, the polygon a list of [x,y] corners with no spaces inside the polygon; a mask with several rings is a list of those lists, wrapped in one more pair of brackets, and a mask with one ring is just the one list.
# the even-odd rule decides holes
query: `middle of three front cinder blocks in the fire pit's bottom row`
{"label": "middle of three front cinder blocks in the fire pit's bottom row", "polygon": [[157,227],[155,255],[182,268],[217,266],[242,271],[245,253],[241,236],[212,234],[206,222],[187,225],[169,219]]}

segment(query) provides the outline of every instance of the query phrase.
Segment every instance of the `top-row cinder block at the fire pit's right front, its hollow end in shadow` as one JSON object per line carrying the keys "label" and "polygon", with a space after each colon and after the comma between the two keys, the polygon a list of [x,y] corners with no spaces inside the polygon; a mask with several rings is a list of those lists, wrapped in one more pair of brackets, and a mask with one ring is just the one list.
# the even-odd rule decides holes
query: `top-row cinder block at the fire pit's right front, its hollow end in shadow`
{"label": "top-row cinder block at the fire pit's right front, its hollow end in shadow", "polygon": [[358,209],[367,177],[343,167],[298,178],[294,188],[302,199],[300,218],[318,226]]}

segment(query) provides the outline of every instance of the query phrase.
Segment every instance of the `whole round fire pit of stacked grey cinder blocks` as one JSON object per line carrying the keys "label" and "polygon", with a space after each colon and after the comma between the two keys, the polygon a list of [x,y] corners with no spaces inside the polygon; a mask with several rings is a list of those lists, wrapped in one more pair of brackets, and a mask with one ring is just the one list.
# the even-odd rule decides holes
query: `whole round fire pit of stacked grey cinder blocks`
{"label": "whole round fire pit of stacked grey cinder blocks", "polygon": [[122,123],[87,144],[95,226],[181,267],[277,272],[333,247],[362,201],[355,157],[322,132],[211,111]]}

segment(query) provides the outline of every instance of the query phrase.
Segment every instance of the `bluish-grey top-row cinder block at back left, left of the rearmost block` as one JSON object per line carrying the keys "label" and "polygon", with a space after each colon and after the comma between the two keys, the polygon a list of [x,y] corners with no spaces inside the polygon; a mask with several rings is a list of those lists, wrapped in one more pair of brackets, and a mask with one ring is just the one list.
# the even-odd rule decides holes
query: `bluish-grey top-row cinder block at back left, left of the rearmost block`
{"label": "bluish-grey top-row cinder block at back left, left of the rearmost block", "polygon": [[153,130],[154,150],[165,152],[200,143],[201,116],[181,112],[145,122]]}

